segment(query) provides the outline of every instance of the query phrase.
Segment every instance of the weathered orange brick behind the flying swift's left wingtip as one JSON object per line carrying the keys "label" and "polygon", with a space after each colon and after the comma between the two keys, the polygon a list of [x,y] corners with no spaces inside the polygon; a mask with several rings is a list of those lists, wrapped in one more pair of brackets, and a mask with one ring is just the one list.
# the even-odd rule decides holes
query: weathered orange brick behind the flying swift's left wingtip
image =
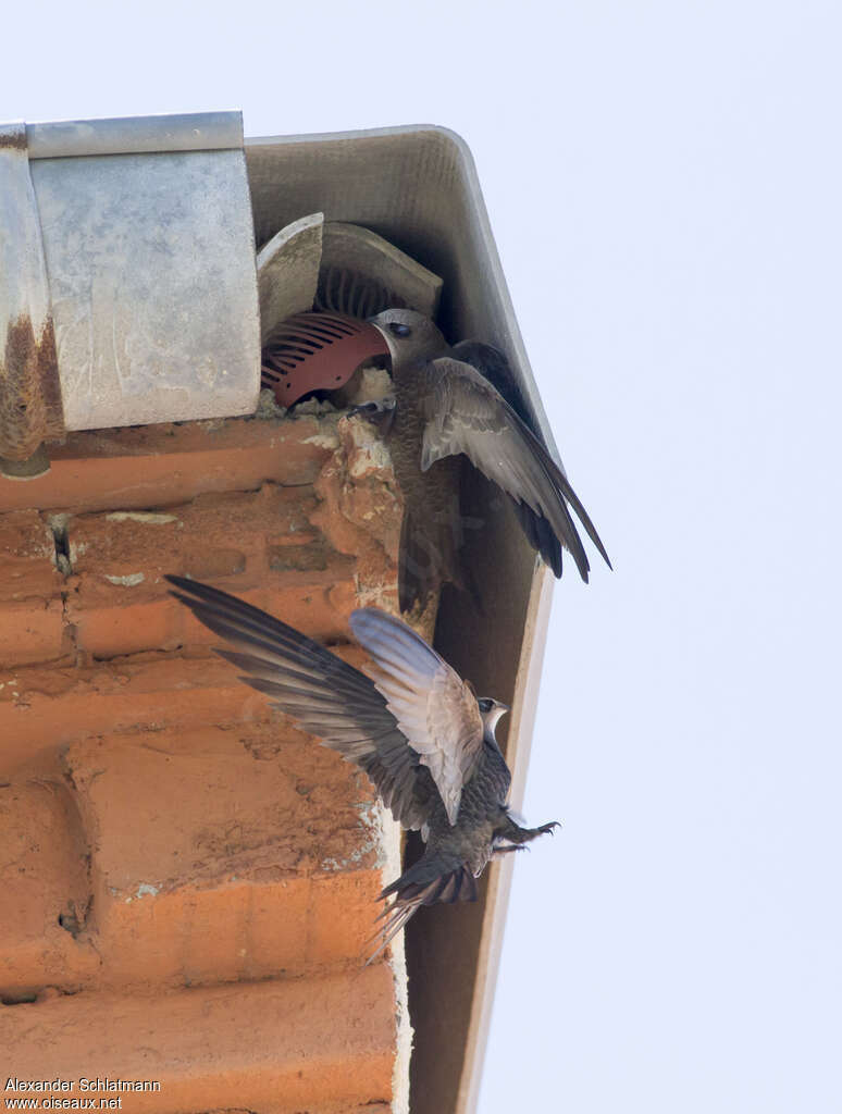
{"label": "weathered orange brick behind the flying swift's left wingtip", "polygon": [[311,525],[316,505],[311,489],[265,485],[169,512],[71,518],[67,619],[78,647],[106,658],[218,642],[168,595],[166,573],[209,578],[311,634],[341,635],[355,563]]}

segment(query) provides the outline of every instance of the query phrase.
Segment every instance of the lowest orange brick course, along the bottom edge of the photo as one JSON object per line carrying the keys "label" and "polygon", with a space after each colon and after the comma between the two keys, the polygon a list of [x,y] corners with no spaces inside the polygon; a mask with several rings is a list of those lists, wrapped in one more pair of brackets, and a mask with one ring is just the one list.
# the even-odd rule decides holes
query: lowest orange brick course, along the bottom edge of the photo
{"label": "lowest orange brick course, along the bottom edge of the photo", "polygon": [[[143,1112],[347,1111],[392,1097],[395,1005],[385,964],[304,980],[195,988],[154,999],[78,994],[0,1010],[22,1079],[155,1079]],[[77,1089],[72,1093],[80,1097]],[[321,1106],[320,1106],[321,1104]],[[376,1106],[374,1106],[376,1108]]]}

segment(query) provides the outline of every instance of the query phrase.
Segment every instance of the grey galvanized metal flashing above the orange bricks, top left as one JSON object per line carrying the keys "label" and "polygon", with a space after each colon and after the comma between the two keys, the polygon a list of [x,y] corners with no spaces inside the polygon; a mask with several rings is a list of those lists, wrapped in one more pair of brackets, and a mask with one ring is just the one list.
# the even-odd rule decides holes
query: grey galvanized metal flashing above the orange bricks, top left
{"label": "grey galvanized metal flashing above the orange bricks, top left", "polygon": [[[51,304],[63,424],[43,436],[253,412],[261,343],[241,115],[2,134],[14,145],[0,241],[17,246],[0,282],[40,281]],[[6,301],[8,317],[21,295]]]}

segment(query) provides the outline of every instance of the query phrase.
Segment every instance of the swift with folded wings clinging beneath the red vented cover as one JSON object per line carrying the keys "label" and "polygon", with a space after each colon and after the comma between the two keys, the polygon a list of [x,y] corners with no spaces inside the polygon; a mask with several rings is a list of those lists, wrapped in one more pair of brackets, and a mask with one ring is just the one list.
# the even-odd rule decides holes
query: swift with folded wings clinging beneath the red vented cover
{"label": "swift with folded wings clinging beneath the red vented cover", "polygon": [[[460,453],[512,499],[530,545],[556,576],[561,576],[562,547],[582,580],[590,569],[570,507],[610,568],[567,477],[528,424],[503,354],[476,341],[451,349],[435,324],[413,310],[385,310],[371,323],[383,334],[392,358],[394,405],[388,437],[405,504],[401,610],[423,607],[443,583],[470,586],[458,556]],[[359,409],[374,410],[376,404]]]}

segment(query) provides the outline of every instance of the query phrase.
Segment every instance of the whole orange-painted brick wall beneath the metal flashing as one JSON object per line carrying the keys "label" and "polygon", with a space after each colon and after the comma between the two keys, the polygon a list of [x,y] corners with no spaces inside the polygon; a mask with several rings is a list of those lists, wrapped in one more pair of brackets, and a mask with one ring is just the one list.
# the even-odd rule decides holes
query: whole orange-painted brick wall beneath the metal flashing
{"label": "whole orange-painted brick wall beneath the metal flashing", "polygon": [[394,825],[163,582],[358,661],[350,610],[396,600],[382,444],[336,414],[239,419],[74,434],[52,461],[0,480],[0,1082],[159,1081],[137,1111],[401,1108],[402,959],[360,966]]}

